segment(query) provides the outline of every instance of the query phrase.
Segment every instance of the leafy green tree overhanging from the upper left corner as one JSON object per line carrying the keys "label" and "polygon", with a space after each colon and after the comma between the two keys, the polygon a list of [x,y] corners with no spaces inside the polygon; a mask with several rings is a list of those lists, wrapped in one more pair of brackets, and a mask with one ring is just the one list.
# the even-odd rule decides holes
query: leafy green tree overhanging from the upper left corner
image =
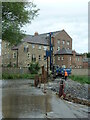
{"label": "leafy green tree overhanging from the upper left corner", "polygon": [[38,15],[33,2],[2,2],[2,40],[17,44],[25,36],[21,28]]}

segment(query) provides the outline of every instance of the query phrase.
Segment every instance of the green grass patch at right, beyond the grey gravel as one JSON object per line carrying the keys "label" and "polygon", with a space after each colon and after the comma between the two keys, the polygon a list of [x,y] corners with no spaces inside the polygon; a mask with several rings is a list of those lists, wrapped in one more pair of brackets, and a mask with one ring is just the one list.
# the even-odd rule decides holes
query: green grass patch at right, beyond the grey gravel
{"label": "green grass patch at right, beyond the grey gravel", "polygon": [[74,80],[74,81],[77,81],[81,84],[90,84],[90,76],[76,76],[76,75],[72,75],[72,76],[69,76],[70,79]]}

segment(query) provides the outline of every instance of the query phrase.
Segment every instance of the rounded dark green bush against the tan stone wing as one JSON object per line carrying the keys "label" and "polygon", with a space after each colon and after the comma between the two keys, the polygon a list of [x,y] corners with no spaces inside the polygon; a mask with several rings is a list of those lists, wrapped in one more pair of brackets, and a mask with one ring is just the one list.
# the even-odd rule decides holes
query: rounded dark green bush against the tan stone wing
{"label": "rounded dark green bush against the tan stone wing", "polygon": [[29,70],[30,70],[31,74],[37,74],[38,71],[40,70],[39,63],[38,62],[32,62],[32,63],[30,63]]}

